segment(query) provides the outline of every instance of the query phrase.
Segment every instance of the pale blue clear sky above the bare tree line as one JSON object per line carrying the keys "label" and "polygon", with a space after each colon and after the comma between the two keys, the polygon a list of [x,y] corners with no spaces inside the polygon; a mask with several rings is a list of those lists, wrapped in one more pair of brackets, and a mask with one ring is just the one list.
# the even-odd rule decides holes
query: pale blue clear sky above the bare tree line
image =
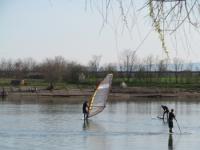
{"label": "pale blue clear sky above the bare tree line", "polygon": [[[147,12],[135,9],[130,16],[134,19],[128,22],[129,30],[117,9],[110,9],[107,23],[103,24],[105,14],[99,11],[99,4],[91,6],[86,2],[89,1],[0,0],[0,58],[32,57],[42,61],[62,56],[87,64],[96,55],[101,56],[102,64],[107,64],[117,63],[126,49],[136,50],[141,59],[149,55],[166,58]],[[136,2],[135,6],[143,4]],[[187,36],[180,30],[167,39],[169,56],[199,62],[200,35],[184,28]]]}

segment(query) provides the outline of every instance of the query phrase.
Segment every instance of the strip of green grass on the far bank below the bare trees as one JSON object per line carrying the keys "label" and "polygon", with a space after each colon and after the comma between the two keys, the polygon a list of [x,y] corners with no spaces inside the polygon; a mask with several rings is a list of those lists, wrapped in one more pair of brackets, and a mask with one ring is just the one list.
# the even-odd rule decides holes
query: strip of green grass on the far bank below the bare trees
{"label": "strip of green grass on the far bank below the bare trees", "polygon": [[[11,86],[10,78],[0,78],[0,87]],[[66,83],[66,82],[57,82],[55,85],[56,89],[70,89],[70,88],[95,88],[96,85],[102,80],[102,78],[88,78],[84,82],[75,84],[75,83]],[[113,86],[120,86],[121,82],[125,81],[129,87],[161,87],[161,88],[181,88],[189,90],[200,90],[200,78],[186,78],[182,77],[178,79],[176,83],[175,77],[162,77],[162,78],[149,78],[149,79],[137,79],[131,78],[129,81],[126,78],[113,78]],[[31,87],[43,87],[46,88],[49,86],[49,82],[43,79],[25,79],[26,84],[23,86]]]}

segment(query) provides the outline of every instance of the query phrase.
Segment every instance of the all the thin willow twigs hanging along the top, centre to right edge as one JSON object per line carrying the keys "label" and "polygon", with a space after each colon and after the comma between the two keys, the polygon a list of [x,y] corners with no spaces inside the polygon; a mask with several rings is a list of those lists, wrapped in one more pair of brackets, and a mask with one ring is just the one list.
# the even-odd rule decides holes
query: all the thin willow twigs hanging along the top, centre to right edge
{"label": "all the thin willow twigs hanging along the top, centre to right edge", "polygon": [[152,25],[159,34],[162,48],[166,54],[168,54],[165,43],[165,35],[167,32],[172,34],[179,30],[183,24],[192,25],[197,29],[200,27],[200,0],[143,0],[143,6],[139,6],[140,8],[135,7],[138,6],[138,0],[85,1],[89,1],[98,10],[101,7],[102,11],[100,14],[103,17],[104,23],[107,23],[105,20],[107,21],[110,9],[118,10],[121,15],[121,21],[128,30],[130,19],[137,20],[137,15],[131,13],[147,8],[153,22]]}

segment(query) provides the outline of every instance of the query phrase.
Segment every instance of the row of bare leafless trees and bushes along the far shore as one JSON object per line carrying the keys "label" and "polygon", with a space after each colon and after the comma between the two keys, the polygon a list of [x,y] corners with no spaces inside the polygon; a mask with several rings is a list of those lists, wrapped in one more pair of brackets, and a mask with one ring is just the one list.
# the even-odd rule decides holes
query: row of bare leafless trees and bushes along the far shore
{"label": "row of bare leafless trees and bushes along the far shore", "polygon": [[[33,58],[0,59],[0,77],[11,79],[44,79],[56,84],[98,82],[107,73],[114,74],[114,84],[126,82],[129,85],[198,84],[200,72],[197,66],[184,62],[180,58],[159,59],[150,55],[139,58],[135,51],[124,50],[119,63],[100,65],[101,56],[94,55],[87,65],[68,61],[62,56],[46,58],[36,62]],[[194,68],[195,67],[195,68]],[[193,70],[196,70],[195,72]]]}

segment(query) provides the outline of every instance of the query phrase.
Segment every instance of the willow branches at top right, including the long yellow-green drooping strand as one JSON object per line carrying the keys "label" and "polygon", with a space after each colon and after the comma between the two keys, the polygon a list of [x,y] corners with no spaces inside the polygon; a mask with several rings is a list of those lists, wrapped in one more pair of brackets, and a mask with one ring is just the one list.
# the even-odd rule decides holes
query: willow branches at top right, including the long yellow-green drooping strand
{"label": "willow branches at top right, including the long yellow-green drooping strand", "polygon": [[[194,16],[199,12],[195,9],[198,0],[149,0],[149,15],[155,31],[159,34],[162,48],[168,55],[165,43],[165,32],[176,32],[183,23],[188,22],[198,27],[200,20]],[[198,4],[199,7],[199,4]]]}

